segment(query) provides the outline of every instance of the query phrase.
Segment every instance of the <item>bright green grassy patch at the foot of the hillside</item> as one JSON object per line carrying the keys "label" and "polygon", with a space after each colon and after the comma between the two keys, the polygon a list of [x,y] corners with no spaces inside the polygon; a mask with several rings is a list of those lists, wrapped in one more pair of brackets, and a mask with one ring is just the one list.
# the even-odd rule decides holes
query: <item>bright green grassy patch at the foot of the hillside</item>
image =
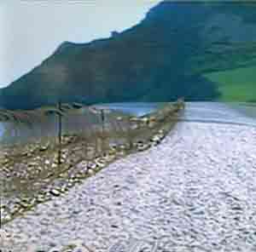
{"label": "bright green grassy patch at the foot of the hillside", "polygon": [[256,101],[256,66],[204,75],[218,86],[221,101]]}

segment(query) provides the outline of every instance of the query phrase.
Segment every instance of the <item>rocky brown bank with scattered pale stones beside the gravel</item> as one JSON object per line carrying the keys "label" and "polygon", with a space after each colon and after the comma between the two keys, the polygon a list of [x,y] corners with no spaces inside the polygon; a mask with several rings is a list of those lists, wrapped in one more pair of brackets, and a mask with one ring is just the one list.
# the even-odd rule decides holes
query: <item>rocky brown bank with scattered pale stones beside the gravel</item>
{"label": "rocky brown bank with scattered pale stones beside the gravel", "polygon": [[[133,119],[142,121],[143,124],[150,123],[149,119],[151,117],[156,119],[153,121],[153,127],[149,127],[148,130],[148,126],[144,125],[143,127],[146,128],[135,129],[134,132],[132,130],[131,132],[127,131],[129,135],[122,133],[122,137],[129,141],[118,146],[118,149],[110,147],[108,141],[108,147],[104,149],[103,146],[106,142],[102,139],[101,148],[98,152],[97,143],[95,143],[95,146],[91,146],[91,143],[88,144],[87,139],[85,139],[86,145],[83,146],[83,138],[80,139],[78,136],[78,139],[73,141],[71,136],[68,136],[67,146],[62,146],[61,157],[63,160],[61,159],[61,165],[59,166],[55,163],[57,160],[56,153],[52,153],[49,146],[44,145],[40,145],[35,153],[28,148],[28,151],[24,152],[25,156],[23,153],[21,153],[21,156],[17,156],[17,158],[21,158],[20,161],[18,159],[19,162],[10,159],[11,163],[8,166],[8,160],[3,159],[2,170],[4,174],[2,173],[2,175],[5,175],[5,178],[0,178],[4,181],[1,206],[2,225],[4,226],[9,221],[15,220],[19,215],[32,210],[40,203],[47,202],[55,197],[61,197],[75,184],[82,183],[83,180],[95,175],[108,166],[109,163],[113,163],[113,161],[133,152],[141,152],[151,146],[160,144],[160,141],[164,139],[175,123],[173,120],[169,122],[170,118],[177,117],[173,115],[173,108],[175,107],[165,106],[162,110],[150,113],[145,117],[133,117]],[[136,135],[132,135],[133,133]],[[95,136],[96,141],[98,141],[98,137]],[[85,152],[84,147],[86,148]],[[90,154],[88,153],[89,148]],[[73,150],[77,151],[73,152],[72,158],[71,151]],[[42,155],[43,157],[46,156],[42,158]],[[54,161],[50,161],[49,155],[52,156]],[[30,163],[26,160],[26,156],[31,157],[27,159],[32,159]],[[39,160],[40,163],[37,161],[38,159],[42,159]],[[25,160],[25,163],[22,160]],[[17,167],[15,167],[15,164],[17,164]],[[44,170],[44,166],[49,166],[49,169]],[[9,169],[11,173],[9,173]]]}

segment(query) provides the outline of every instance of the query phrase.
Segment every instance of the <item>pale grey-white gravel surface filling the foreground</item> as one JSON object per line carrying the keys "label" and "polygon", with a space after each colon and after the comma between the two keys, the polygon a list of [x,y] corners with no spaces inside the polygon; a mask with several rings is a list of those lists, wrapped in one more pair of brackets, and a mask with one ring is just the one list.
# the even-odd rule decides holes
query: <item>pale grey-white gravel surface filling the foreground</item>
{"label": "pale grey-white gravel surface filling the foreground", "polygon": [[73,241],[108,251],[129,238],[158,240],[157,251],[254,252],[256,128],[177,123],[160,146],[110,164],[3,229],[11,233],[4,252]]}

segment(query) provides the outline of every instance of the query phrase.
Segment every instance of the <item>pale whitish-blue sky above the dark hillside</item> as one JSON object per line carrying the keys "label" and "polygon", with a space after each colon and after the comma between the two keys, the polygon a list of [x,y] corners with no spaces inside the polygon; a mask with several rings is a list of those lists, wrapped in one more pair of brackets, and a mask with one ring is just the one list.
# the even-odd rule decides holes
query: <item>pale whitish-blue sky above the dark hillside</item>
{"label": "pale whitish-blue sky above the dark hillside", "polygon": [[[1,1],[2,2],[2,1]],[[86,43],[143,20],[157,0],[8,0],[0,3],[0,87],[64,41]]]}

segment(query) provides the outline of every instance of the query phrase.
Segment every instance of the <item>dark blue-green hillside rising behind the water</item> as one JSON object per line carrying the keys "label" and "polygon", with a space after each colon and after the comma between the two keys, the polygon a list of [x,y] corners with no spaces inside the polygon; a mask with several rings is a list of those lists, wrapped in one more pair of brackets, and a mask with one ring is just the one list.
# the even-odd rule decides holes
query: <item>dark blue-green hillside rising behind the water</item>
{"label": "dark blue-green hillside rising behind the water", "polygon": [[[0,90],[0,106],[32,108],[57,100],[166,101],[180,96],[234,100],[228,94],[234,92],[230,78],[211,73],[255,63],[256,3],[165,1],[150,9],[140,24],[113,32],[113,37],[62,43],[40,66]],[[246,79],[243,75],[241,80]],[[256,73],[250,79],[256,83]],[[252,100],[252,83],[243,101]]]}

